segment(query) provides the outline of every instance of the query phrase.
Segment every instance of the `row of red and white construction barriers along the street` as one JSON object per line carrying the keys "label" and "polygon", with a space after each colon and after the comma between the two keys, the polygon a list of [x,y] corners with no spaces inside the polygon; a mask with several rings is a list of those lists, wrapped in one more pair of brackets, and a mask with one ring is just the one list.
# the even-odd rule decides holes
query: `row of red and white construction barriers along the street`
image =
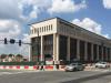
{"label": "row of red and white construction barriers along the street", "polygon": [[[65,65],[43,65],[44,71],[64,71]],[[41,65],[0,65],[0,70],[41,70]],[[94,65],[87,65],[84,71],[95,70]]]}

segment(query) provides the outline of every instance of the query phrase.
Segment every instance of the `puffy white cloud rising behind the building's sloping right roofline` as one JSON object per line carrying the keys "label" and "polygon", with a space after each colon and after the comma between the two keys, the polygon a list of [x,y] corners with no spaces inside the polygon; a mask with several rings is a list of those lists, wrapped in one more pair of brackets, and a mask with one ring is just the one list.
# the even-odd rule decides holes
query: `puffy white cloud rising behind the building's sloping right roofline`
{"label": "puffy white cloud rising behind the building's sloping right roofline", "polygon": [[72,23],[82,27],[91,32],[109,38],[109,34],[102,34],[102,25],[90,18],[84,18],[82,21],[80,21],[79,19],[74,19],[72,20]]}

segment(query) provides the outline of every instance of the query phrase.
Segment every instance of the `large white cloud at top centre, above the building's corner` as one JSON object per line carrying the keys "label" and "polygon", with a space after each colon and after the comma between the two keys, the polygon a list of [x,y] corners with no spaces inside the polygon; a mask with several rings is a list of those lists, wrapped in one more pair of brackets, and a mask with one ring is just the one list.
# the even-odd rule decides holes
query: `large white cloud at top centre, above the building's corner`
{"label": "large white cloud at top centre, above the building's corner", "polygon": [[52,6],[48,9],[48,11],[50,13],[74,12],[84,8],[87,8],[84,0],[78,4],[75,4],[72,0],[52,0]]}

